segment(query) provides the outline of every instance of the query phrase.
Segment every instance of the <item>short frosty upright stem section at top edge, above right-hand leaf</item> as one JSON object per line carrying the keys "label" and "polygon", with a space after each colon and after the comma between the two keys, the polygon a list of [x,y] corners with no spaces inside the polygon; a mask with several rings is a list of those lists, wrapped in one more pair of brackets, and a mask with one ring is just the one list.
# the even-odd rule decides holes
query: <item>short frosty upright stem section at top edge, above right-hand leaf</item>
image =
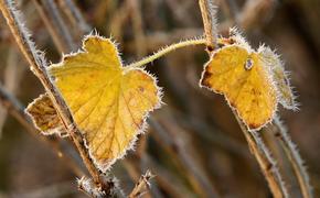
{"label": "short frosty upright stem section at top edge, above right-hand leaf", "polygon": [[202,14],[204,34],[206,37],[206,47],[211,52],[216,46],[217,25],[216,25],[216,8],[212,0],[199,0],[199,6]]}

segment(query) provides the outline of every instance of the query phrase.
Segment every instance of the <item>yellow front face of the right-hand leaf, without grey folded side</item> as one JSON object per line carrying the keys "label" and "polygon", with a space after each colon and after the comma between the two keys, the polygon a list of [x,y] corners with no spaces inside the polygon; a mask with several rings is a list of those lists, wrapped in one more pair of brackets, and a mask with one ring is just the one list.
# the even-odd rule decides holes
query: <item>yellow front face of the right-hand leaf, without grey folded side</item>
{"label": "yellow front face of the right-hand leaf, without grey folded side", "polygon": [[260,55],[235,43],[214,52],[201,85],[223,94],[249,130],[268,123],[277,109],[276,88]]}

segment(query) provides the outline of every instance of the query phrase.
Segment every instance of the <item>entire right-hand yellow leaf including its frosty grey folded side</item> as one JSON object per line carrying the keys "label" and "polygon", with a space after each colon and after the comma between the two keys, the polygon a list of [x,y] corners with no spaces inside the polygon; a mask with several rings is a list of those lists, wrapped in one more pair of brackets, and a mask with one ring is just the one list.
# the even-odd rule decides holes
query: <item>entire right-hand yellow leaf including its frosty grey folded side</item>
{"label": "entire right-hand yellow leaf including its frosty grey folded side", "polygon": [[200,85],[224,95],[249,130],[271,121],[278,102],[297,109],[282,63],[269,47],[254,51],[235,28],[217,44],[220,48],[205,64]]}

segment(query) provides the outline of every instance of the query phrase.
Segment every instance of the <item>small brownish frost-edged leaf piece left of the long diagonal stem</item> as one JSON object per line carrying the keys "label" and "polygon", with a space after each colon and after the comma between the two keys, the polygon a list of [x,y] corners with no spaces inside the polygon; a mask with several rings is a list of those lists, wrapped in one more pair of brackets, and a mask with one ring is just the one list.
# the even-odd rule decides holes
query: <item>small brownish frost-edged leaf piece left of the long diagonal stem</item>
{"label": "small brownish frost-edged leaf piece left of the long diagonal stem", "polygon": [[34,125],[45,135],[58,134],[65,136],[65,132],[53,103],[46,94],[41,95],[28,106],[25,112],[32,118]]}

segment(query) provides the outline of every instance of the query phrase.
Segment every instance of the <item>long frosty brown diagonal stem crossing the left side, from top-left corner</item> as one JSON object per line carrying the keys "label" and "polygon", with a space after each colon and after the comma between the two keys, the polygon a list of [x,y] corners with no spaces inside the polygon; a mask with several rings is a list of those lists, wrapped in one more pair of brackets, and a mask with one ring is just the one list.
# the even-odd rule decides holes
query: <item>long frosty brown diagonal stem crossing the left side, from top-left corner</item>
{"label": "long frosty brown diagonal stem crossing the left side, from top-left corner", "polygon": [[84,164],[86,165],[88,172],[90,173],[94,182],[102,187],[108,194],[109,184],[104,183],[99,170],[96,168],[92,162],[88,151],[85,147],[84,139],[81,131],[75,125],[72,113],[67,108],[62,96],[57,89],[51,82],[51,79],[46,73],[46,62],[43,54],[36,52],[34,44],[30,41],[30,34],[26,32],[23,22],[19,19],[18,11],[13,7],[13,2],[9,0],[0,0],[0,10],[11,30],[11,33],[21,50],[22,54],[30,64],[31,70],[41,80],[46,92],[50,95],[56,111],[65,127],[65,130],[70,133],[73,143],[76,145]]}

